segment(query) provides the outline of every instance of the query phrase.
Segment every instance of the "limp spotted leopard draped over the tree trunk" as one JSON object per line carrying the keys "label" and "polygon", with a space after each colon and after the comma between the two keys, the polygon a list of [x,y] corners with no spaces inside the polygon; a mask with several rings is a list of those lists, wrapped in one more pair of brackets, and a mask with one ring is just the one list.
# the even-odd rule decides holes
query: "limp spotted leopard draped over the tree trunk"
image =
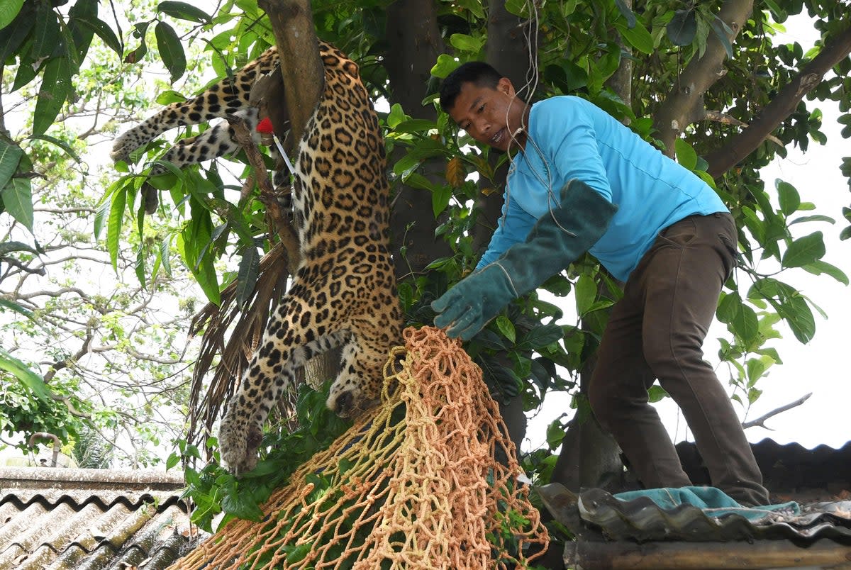
{"label": "limp spotted leopard draped over the tree trunk", "polygon": [[[355,419],[379,402],[383,369],[401,343],[399,304],[390,248],[391,188],[378,116],[357,63],[319,41],[324,86],[294,160],[293,209],[300,265],[271,315],[219,427],[222,465],[237,476],[253,470],[271,409],[311,357],[340,348],[340,373],[326,405]],[[165,107],[119,137],[112,157],[128,157],[173,126],[248,108],[255,81],[279,65],[270,48],[232,79]],[[182,166],[236,150],[227,126],[182,140],[164,159]]]}

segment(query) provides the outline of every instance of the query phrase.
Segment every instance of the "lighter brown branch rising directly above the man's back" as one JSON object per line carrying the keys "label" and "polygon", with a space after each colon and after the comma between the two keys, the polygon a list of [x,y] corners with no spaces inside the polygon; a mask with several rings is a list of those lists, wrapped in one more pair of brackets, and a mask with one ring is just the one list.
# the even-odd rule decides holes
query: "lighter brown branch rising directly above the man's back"
{"label": "lighter brown branch rising directly above the man's back", "polygon": [[[731,43],[739,35],[752,10],[753,0],[727,0],[723,3],[718,18],[732,31],[728,35]],[[683,130],[703,116],[703,94],[726,73],[723,68],[726,55],[721,40],[715,34],[710,34],[703,57],[695,56],[688,62],[677,77],[677,84],[655,112],[654,127],[659,130],[659,139],[665,145],[668,156],[673,156],[674,142]]]}

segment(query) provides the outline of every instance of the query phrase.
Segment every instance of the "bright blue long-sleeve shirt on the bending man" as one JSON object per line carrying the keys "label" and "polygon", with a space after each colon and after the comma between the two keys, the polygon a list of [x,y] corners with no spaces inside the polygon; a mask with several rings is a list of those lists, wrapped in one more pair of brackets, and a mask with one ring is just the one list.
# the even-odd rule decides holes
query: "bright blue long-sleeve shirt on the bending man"
{"label": "bright blue long-sleeve shirt on the bending man", "polygon": [[590,185],[618,211],[589,250],[626,281],[660,231],[692,214],[727,212],[709,185],[592,103],[574,96],[535,103],[528,139],[513,158],[500,223],[481,269],[523,242],[559,202],[568,180]]}

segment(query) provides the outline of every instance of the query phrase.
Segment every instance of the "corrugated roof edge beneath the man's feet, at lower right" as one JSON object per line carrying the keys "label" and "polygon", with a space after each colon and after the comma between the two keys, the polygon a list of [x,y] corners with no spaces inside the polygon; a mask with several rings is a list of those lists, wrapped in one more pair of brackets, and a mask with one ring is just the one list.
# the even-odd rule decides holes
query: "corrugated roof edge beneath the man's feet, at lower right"
{"label": "corrugated roof edge beneath the man's feet, at lower right", "polygon": [[851,501],[802,504],[751,521],[710,516],[681,504],[615,498],[603,489],[536,489],[551,515],[574,533],[565,563],[576,568],[851,567]]}

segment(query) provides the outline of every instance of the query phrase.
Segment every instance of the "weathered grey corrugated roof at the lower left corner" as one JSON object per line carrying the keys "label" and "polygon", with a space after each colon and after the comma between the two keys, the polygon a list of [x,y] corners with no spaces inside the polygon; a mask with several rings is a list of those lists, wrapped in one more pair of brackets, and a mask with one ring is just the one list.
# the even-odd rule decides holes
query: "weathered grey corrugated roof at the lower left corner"
{"label": "weathered grey corrugated roof at the lower left corner", "polygon": [[0,469],[0,570],[168,567],[197,544],[182,474]]}

